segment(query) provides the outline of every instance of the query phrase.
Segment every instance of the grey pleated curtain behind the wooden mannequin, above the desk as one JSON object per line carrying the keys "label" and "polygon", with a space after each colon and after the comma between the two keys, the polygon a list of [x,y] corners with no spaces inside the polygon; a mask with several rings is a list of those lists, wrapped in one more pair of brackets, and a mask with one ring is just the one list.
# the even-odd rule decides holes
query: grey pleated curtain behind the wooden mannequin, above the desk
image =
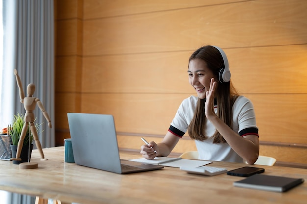
{"label": "grey pleated curtain behind the wooden mannequin, above the desk", "polygon": [[[29,83],[36,85],[34,97],[39,98],[53,122],[48,127],[41,110],[36,107],[35,117],[43,123],[44,132],[39,140],[42,147],[54,147],[54,12],[53,0],[17,0],[16,6],[15,68],[26,95]],[[16,82],[15,82],[16,83]],[[15,89],[15,113],[24,113],[19,91]]]}

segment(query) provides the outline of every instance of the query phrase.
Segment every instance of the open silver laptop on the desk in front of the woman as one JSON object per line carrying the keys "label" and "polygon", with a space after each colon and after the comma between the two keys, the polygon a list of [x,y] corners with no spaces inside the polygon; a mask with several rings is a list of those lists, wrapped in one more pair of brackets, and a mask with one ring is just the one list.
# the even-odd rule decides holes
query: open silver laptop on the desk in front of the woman
{"label": "open silver laptop on the desk in front of the woman", "polygon": [[163,168],[120,159],[112,115],[67,113],[67,118],[76,164],[118,174]]}

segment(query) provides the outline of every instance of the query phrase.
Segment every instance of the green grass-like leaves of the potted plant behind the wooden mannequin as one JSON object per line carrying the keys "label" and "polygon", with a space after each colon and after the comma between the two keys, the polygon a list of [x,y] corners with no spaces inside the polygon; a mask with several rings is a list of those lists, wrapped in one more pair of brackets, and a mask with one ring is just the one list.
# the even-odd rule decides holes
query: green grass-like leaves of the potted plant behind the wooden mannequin
{"label": "green grass-like leaves of the potted plant behind the wooden mannequin", "polygon": [[[34,120],[34,123],[35,123],[35,121],[36,121],[36,118]],[[13,124],[8,126],[8,135],[11,136],[13,145],[18,144],[18,141],[19,141],[21,131],[23,129],[24,124],[25,124],[25,118],[22,114],[17,113],[17,115],[14,115]],[[41,124],[35,123],[37,133],[40,132],[40,125]],[[29,124],[27,131],[26,131],[23,146],[29,144],[29,129],[30,129],[30,124]],[[30,143],[32,143],[32,142],[33,142],[33,134],[31,133]]]}

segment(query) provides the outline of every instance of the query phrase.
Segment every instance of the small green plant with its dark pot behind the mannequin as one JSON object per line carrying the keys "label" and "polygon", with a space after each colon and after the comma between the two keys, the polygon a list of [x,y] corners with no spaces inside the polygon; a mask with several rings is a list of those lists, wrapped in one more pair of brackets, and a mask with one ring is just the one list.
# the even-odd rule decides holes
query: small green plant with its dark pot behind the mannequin
{"label": "small green plant with its dark pot behind the mannequin", "polygon": [[[25,125],[24,116],[22,114],[18,113],[17,115],[14,115],[13,124],[8,127],[8,135],[12,139],[11,151],[12,151],[12,157],[13,158],[16,157],[17,145],[18,145],[18,142],[19,142],[21,132],[22,132],[24,125]],[[40,125],[38,125],[37,123],[35,124],[35,127],[36,127],[38,132],[39,132],[39,126]],[[29,127],[26,131],[26,135],[25,135],[24,142],[23,142],[23,148],[22,148],[20,156],[19,156],[21,161],[15,161],[14,160],[13,161],[14,164],[19,164],[19,163],[22,163],[22,162],[28,162],[29,159],[31,159],[31,153],[32,153],[32,149],[33,149],[33,144],[32,144],[33,134],[31,133],[31,135],[29,136],[29,129],[30,129]],[[29,142],[30,142],[30,154],[29,154]],[[30,156],[30,158],[28,156]]]}

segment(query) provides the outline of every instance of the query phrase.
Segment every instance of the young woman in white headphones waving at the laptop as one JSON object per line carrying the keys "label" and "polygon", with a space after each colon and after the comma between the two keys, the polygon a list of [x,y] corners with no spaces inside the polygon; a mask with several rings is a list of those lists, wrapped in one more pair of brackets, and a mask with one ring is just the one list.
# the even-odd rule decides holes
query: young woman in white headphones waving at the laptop
{"label": "young woman in white headphones waving at the laptop", "polygon": [[189,59],[188,75],[197,97],[183,100],[162,142],[141,147],[143,157],[168,156],[188,132],[199,159],[255,163],[259,136],[253,104],[233,88],[224,51],[199,48]]}

